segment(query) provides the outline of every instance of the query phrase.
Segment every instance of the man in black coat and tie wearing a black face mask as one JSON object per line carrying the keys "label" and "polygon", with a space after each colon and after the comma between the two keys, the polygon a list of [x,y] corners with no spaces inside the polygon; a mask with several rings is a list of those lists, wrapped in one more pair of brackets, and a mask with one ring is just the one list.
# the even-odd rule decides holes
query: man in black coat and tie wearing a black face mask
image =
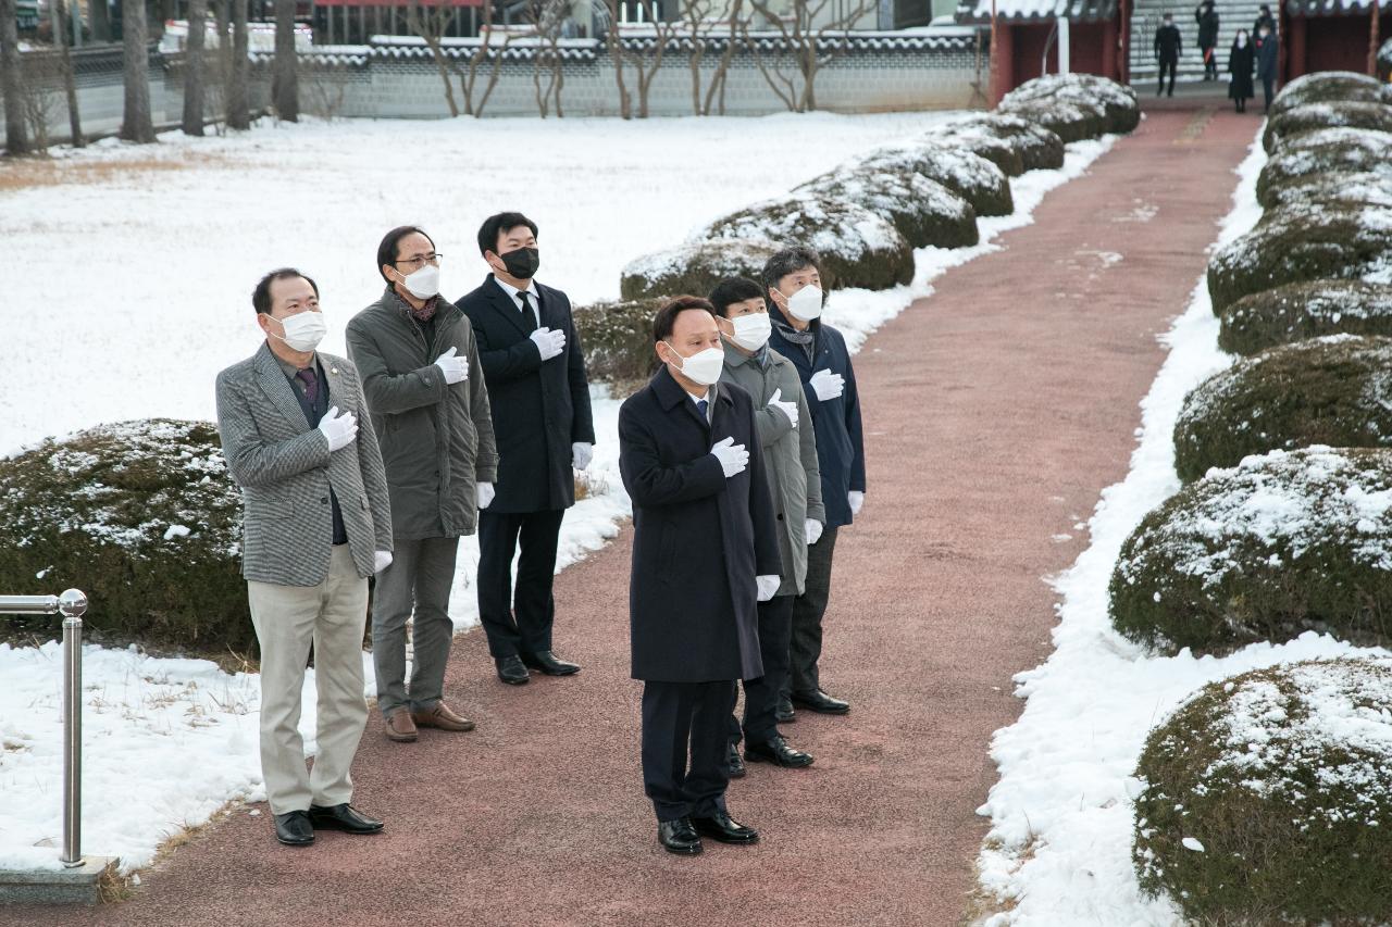
{"label": "man in black coat and tie wearing a black face mask", "polygon": [[583,470],[594,451],[571,301],[533,280],[536,232],[521,213],[489,217],[479,228],[479,252],[493,273],[457,303],[479,342],[498,443],[497,494],[479,512],[479,619],[498,678],[511,685],[525,683],[528,668],[551,676],[580,670],[551,651],[551,580],[561,518],[575,505],[571,468]]}

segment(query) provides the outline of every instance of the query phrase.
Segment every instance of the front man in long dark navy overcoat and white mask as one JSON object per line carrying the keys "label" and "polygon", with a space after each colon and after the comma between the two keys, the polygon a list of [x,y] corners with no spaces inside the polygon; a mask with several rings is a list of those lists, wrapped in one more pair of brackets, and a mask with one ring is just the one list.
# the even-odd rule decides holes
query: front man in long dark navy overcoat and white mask
{"label": "front man in long dark navy overcoat and white mask", "polygon": [[763,675],[756,603],[778,590],[781,564],[753,401],[718,383],[725,352],[710,302],[668,302],[653,340],[663,367],[618,418],[633,500],[633,678],[658,842],[695,855],[703,835],[759,839],[725,809],[725,746],[735,681]]}

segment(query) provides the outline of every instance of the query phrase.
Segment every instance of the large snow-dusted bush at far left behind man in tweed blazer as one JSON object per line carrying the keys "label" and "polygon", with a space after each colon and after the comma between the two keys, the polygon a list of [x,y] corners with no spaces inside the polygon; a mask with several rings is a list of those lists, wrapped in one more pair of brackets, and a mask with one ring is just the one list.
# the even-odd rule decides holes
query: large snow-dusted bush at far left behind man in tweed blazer
{"label": "large snow-dusted bush at far left behind man in tweed blazer", "polygon": [[212,422],[49,440],[0,461],[0,589],[82,589],[86,624],[114,640],[249,653],[241,515]]}

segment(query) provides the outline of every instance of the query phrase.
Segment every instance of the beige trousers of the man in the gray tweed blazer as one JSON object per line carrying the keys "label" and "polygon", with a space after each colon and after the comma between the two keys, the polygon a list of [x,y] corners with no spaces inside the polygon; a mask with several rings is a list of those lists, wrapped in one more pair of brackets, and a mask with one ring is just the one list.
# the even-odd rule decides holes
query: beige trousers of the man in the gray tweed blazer
{"label": "beige trousers of the man in the gray tweed blazer", "polygon": [[[271,814],[349,802],[348,767],[367,724],[362,692],[367,580],[358,575],[348,544],[338,544],[317,586],[248,582],[246,599],[262,650],[262,777]],[[319,690],[319,754],[312,774],[299,736],[310,642]]]}

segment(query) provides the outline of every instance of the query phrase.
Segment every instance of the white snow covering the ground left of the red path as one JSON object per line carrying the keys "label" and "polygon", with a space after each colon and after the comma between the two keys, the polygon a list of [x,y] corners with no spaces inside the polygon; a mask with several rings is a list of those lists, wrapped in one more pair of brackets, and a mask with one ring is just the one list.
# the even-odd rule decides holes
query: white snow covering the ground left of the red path
{"label": "white snow covering the ground left of the red path", "polygon": [[[180,170],[7,193],[4,256],[11,266],[46,259],[43,273],[15,274],[0,302],[0,452],[99,422],[212,418],[217,370],[259,342],[249,295],[270,267],[295,264],[316,277],[330,322],[324,349],[341,352],[344,323],[380,290],[374,252],[383,231],[426,227],[447,255],[444,291],[452,298],[486,273],[473,245],[479,223],[519,207],[541,228],[541,280],[576,302],[612,298],[632,258],[944,118],[951,114],[277,127],[228,139],[171,136],[159,152],[135,154],[181,161]],[[1069,146],[1063,168],[1016,178],[1015,214],[981,220],[980,245],[920,249],[910,285],[839,291],[827,320],[859,351],[878,326],[930,295],[937,276],[1029,224],[1043,196],[1112,141]],[[107,145],[71,160],[131,156]],[[56,359],[78,387],[61,401],[50,373]],[[567,515],[561,569],[614,537],[629,514],[618,475],[618,398],[596,387],[594,399],[592,496]],[[476,562],[468,540],[450,607],[461,628],[476,624]],[[99,614],[90,619],[100,624]],[[365,661],[370,685],[370,656]],[[54,867],[57,649],[0,644],[0,869]],[[206,821],[223,803],[263,798],[255,675],[89,646],[85,682],[88,852],[139,869],[167,835]],[[301,729],[312,747],[312,678]]]}

